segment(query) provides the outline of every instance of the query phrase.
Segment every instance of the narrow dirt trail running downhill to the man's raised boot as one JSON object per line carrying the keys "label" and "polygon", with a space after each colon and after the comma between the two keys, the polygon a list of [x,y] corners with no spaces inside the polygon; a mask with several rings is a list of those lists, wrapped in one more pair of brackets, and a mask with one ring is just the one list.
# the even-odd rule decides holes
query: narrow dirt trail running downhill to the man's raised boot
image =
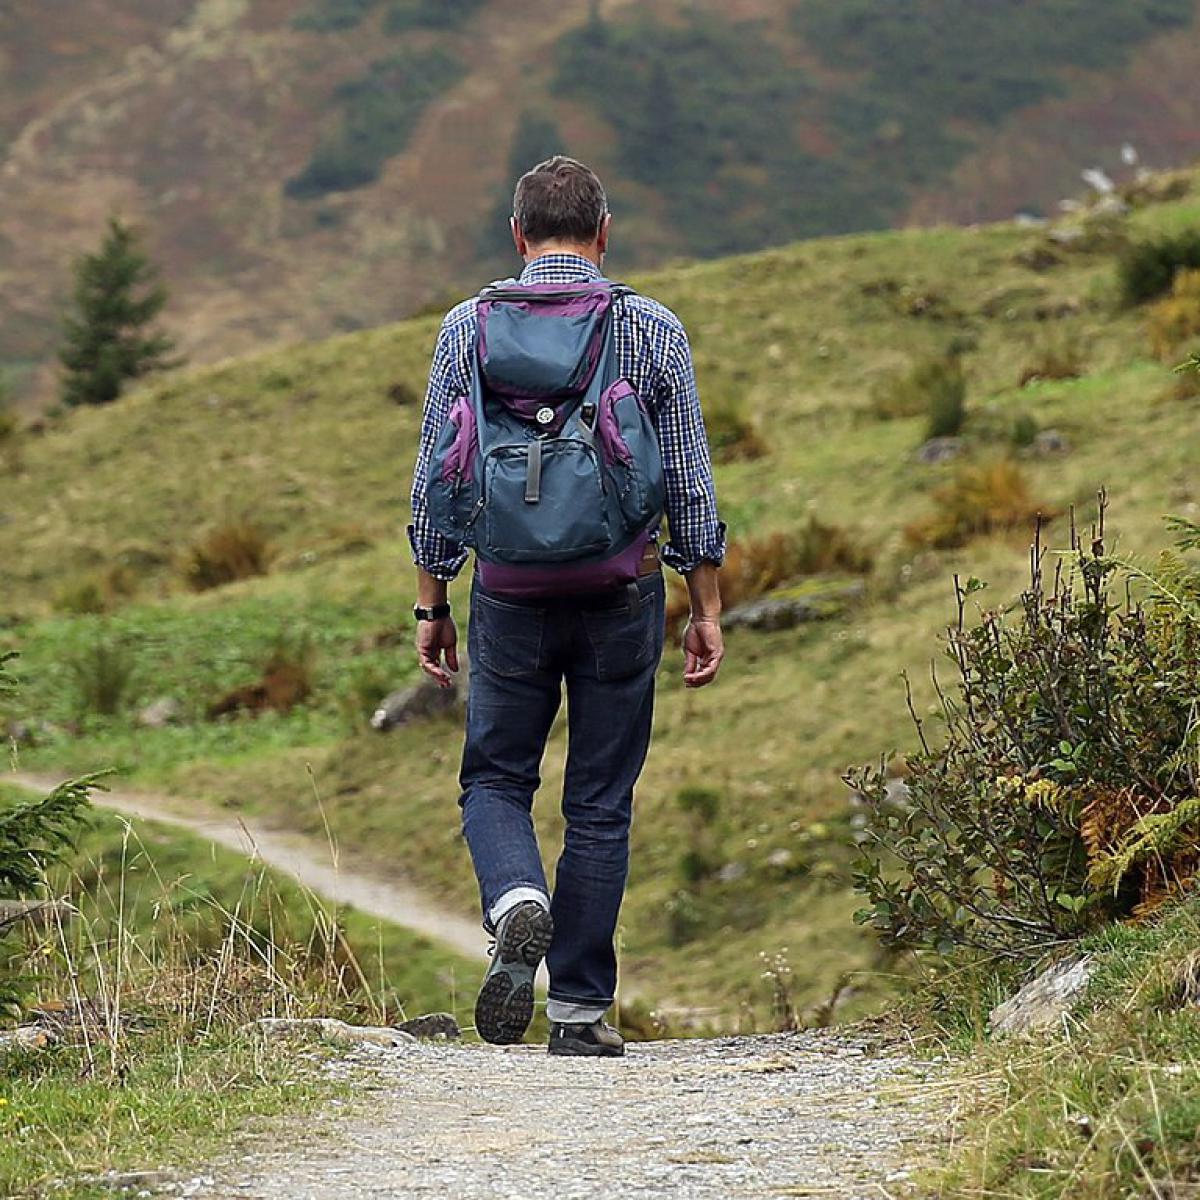
{"label": "narrow dirt trail running downhill to the man's raised boot", "polygon": [[[48,792],[60,779],[16,772],[0,775],[0,781],[30,791]],[[468,958],[486,956],[486,938],[475,922],[439,908],[403,880],[384,880],[349,870],[344,863],[335,863],[328,850],[319,851],[298,834],[272,829],[253,817],[204,812],[194,804],[190,812],[182,812],[180,808],[187,802],[154,792],[95,792],[92,802],[127,817],[187,829],[292,876],[302,887],[326,900],[403,925]]]}

